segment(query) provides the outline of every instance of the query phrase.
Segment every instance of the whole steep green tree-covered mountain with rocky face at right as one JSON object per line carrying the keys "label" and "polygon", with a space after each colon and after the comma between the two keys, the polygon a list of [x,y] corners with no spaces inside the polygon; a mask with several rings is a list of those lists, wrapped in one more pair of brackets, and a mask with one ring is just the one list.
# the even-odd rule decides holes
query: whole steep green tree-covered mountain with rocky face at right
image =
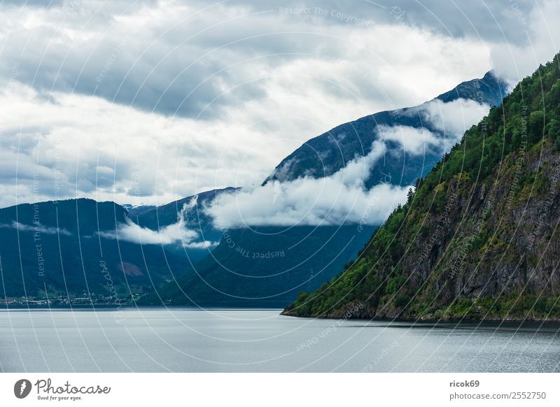
{"label": "whole steep green tree-covered mountain with rocky face at right", "polygon": [[284,315],[559,320],[560,57],[420,180],[367,248]]}

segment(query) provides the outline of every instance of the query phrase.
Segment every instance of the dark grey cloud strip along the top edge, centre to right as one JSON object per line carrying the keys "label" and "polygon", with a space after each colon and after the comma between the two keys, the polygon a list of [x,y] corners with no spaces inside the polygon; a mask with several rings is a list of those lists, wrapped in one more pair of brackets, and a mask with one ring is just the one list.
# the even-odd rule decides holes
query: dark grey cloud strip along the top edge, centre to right
{"label": "dark grey cloud strip along the top edge, centre to right", "polygon": [[[240,3],[240,2],[235,2]],[[242,1],[256,10],[275,10],[323,24],[408,24],[454,37],[524,43],[528,14],[535,0],[379,0],[379,1]]]}

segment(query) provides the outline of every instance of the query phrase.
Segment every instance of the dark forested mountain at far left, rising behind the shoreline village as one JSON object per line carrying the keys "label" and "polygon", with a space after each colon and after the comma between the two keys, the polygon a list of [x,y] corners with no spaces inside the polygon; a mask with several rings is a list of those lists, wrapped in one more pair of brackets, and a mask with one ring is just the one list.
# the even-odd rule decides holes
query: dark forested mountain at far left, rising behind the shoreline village
{"label": "dark forested mountain at far left, rising behind the shoreline village", "polygon": [[111,237],[127,221],[122,206],[91,199],[0,209],[0,294],[123,297],[153,290],[186,268],[161,245]]}

